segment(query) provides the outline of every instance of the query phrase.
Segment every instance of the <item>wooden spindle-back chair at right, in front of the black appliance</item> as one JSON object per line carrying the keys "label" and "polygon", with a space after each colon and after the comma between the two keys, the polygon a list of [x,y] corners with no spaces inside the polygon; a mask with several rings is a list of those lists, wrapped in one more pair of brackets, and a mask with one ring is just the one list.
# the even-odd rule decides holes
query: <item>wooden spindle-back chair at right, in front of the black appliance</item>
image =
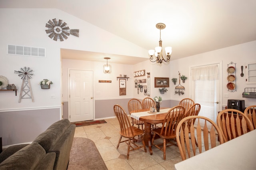
{"label": "wooden spindle-back chair at right, in front of the black appliance", "polygon": [[254,130],[250,119],[236,109],[224,109],[218,113],[217,125],[224,134],[224,142]]}

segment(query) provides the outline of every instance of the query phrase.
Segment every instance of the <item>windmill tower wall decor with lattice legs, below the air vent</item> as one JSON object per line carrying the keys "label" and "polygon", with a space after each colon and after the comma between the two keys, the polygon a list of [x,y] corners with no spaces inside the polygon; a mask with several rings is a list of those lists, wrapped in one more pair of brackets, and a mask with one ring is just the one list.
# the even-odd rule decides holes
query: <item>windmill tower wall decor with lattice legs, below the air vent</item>
{"label": "windmill tower wall decor with lattice legs, below the air vent", "polygon": [[20,71],[14,71],[14,73],[18,73],[18,76],[22,79],[19,103],[21,99],[32,99],[32,102],[34,102],[34,96],[30,84],[30,79],[33,75],[32,71],[33,70],[30,69],[30,67],[24,67],[20,68]]}

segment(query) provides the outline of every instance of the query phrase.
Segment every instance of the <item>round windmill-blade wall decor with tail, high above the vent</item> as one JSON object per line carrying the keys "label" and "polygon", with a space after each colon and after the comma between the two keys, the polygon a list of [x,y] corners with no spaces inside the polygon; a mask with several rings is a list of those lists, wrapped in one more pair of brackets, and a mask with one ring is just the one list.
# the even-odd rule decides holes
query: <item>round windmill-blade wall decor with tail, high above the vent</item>
{"label": "round windmill-blade wall decor with tail, high above the vent", "polygon": [[62,23],[62,20],[57,21],[56,18],[52,21],[49,20],[45,26],[48,28],[48,30],[45,30],[46,34],[50,34],[48,37],[53,38],[54,41],[59,39],[61,42],[67,39],[70,34],[79,37],[79,29],[69,29],[66,25],[66,22]]}

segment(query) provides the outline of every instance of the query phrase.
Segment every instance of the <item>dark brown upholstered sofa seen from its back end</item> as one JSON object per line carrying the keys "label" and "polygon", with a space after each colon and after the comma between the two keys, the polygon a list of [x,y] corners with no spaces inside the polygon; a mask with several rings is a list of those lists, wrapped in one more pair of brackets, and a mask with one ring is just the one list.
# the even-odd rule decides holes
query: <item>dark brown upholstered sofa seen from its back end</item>
{"label": "dark brown upholstered sofa seen from its back end", "polygon": [[32,144],[4,149],[0,169],[67,169],[75,128],[76,125],[63,119],[48,127]]}

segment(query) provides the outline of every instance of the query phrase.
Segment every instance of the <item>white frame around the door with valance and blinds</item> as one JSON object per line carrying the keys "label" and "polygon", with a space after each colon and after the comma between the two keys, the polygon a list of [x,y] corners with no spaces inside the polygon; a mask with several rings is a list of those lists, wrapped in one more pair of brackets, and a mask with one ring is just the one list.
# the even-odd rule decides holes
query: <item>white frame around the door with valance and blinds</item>
{"label": "white frame around the door with valance and blinds", "polygon": [[[219,79],[220,79],[220,99],[219,99],[219,111],[222,111],[222,61],[216,61],[216,62],[210,62],[210,63],[202,63],[202,64],[198,64],[198,65],[192,65],[189,67],[189,97],[192,98],[192,77],[191,77],[191,68],[192,67],[202,67],[204,65],[213,65],[213,64],[219,64],[220,68],[219,68]],[[215,117],[216,119],[216,117]]]}

